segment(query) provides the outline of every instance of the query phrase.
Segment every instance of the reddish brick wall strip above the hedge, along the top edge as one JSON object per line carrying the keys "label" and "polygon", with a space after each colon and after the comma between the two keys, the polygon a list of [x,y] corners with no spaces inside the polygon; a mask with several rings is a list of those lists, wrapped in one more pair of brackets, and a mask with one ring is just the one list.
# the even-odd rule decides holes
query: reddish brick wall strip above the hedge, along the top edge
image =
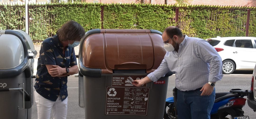
{"label": "reddish brick wall strip above the hedge, along the top edge", "polygon": [[[141,0],[84,0],[86,3],[141,3]],[[150,0],[144,0],[150,3]],[[151,0],[152,4],[164,4],[164,0]],[[167,0],[167,4],[176,4],[175,0]],[[188,0],[188,5],[223,5],[223,6],[256,6],[256,0]]]}

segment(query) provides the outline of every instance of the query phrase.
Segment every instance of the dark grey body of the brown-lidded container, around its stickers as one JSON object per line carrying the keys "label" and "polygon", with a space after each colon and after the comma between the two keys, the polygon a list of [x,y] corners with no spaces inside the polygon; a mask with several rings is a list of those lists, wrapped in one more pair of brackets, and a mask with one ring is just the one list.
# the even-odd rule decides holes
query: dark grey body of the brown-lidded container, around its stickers
{"label": "dark grey body of the brown-lidded container, around its stickers", "polygon": [[[136,76],[138,74],[113,74],[112,76]],[[145,74],[144,74],[145,75]],[[147,74],[146,74],[147,75]],[[146,76],[145,75],[145,76]],[[167,94],[168,77],[162,77],[158,81],[164,84],[150,82],[146,87],[150,88],[148,97],[147,115],[106,115],[106,87],[111,86],[112,76],[93,78],[79,75],[79,105],[84,107],[86,119],[162,119],[164,115],[165,99]],[[81,85],[83,84],[83,85]],[[131,88],[131,87],[130,87]],[[81,99],[83,98],[83,99]]]}

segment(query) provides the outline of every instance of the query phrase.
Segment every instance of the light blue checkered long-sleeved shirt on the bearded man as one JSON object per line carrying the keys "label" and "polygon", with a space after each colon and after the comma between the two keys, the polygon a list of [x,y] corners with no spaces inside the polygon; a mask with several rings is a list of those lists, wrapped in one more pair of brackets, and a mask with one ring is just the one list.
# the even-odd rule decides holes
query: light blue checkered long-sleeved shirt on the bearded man
{"label": "light blue checkered long-sleeved shirt on the bearded man", "polygon": [[155,82],[169,70],[175,73],[175,86],[180,91],[196,90],[223,77],[217,51],[206,40],[187,35],[178,52],[167,52],[160,66],[147,76]]}

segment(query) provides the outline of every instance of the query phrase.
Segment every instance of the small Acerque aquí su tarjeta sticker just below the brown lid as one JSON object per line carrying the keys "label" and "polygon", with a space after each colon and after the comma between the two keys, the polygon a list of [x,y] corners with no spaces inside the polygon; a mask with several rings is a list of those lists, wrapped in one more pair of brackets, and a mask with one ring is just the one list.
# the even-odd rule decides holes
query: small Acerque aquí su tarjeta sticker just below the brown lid
{"label": "small Acerque aqu\u00ed su tarjeta sticker just below the brown lid", "polygon": [[[143,79],[145,76],[112,76],[112,84],[111,86],[133,86],[132,84],[134,80],[140,80]],[[146,87],[147,84],[142,85],[141,87]]]}

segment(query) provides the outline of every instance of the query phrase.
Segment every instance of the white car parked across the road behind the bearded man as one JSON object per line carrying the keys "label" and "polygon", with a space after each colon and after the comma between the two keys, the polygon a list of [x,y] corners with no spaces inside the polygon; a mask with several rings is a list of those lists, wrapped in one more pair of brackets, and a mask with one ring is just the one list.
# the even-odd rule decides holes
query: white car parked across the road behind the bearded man
{"label": "white car parked across the road behind the bearded man", "polygon": [[222,58],[222,73],[253,70],[256,64],[255,37],[219,37],[206,39]]}

